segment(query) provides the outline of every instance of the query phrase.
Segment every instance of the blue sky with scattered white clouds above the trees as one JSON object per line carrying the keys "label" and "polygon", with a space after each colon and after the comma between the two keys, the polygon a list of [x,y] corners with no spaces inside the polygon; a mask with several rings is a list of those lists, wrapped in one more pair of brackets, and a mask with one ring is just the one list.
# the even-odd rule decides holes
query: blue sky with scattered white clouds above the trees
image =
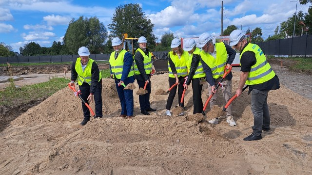
{"label": "blue sky with scattered white clouds above the trees", "polygon": [[[158,41],[165,32],[184,38],[221,33],[221,0],[0,0],[0,42],[16,52],[32,41],[51,47],[79,16],[96,16],[109,31],[116,7],[128,3],[140,5]],[[243,31],[260,27],[266,39],[295,13],[296,4],[297,13],[308,13],[310,4],[299,0],[223,0],[223,30],[229,25]]]}

